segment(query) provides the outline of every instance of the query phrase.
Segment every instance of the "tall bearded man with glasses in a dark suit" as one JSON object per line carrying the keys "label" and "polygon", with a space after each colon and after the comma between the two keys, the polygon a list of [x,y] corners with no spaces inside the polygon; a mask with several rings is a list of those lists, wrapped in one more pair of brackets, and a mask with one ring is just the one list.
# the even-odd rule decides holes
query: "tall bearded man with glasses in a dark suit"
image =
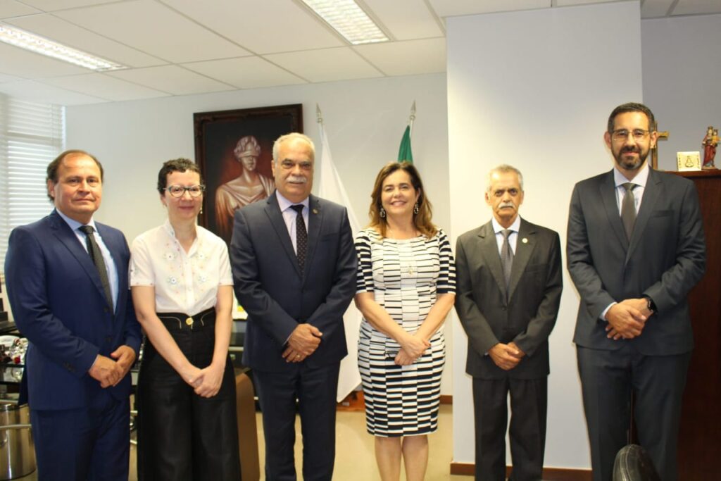
{"label": "tall bearded man with glasses in a dark suit", "polygon": [[694,344],[686,294],[706,260],[698,195],[693,182],[648,166],[658,133],[645,105],[616,107],[603,138],[614,169],[575,186],[567,236],[593,480],[611,480],[632,393],[638,441],[661,480],[676,480]]}

